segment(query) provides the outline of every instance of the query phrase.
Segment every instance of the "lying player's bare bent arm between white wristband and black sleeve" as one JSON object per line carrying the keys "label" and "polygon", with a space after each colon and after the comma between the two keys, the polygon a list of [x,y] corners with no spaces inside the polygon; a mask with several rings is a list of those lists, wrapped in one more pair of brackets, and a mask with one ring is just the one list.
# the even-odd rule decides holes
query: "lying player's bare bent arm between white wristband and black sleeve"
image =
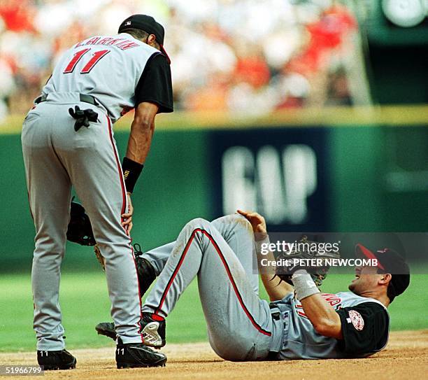
{"label": "lying player's bare bent arm between white wristband and black sleeve", "polygon": [[300,300],[309,321],[320,335],[342,338],[341,319],[320,293]]}

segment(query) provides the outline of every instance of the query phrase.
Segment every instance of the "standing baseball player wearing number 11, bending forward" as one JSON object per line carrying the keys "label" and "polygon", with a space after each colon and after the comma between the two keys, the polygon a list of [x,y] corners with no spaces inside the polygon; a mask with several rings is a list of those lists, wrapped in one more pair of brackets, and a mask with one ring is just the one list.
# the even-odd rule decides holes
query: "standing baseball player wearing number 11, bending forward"
{"label": "standing baseball player wearing number 11, bending forward", "polygon": [[[104,256],[117,367],[164,365],[142,342],[138,277],[129,232],[131,193],[141,174],[157,113],[173,111],[164,28],[132,15],[114,36],[92,36],[64,52],[22,126],[31,215],[36,227],[32,289],[38,363],[76,367],[66,351],[58,302],[71,187],[92,222]],[[113,123],[135,108],[120,164]]]}

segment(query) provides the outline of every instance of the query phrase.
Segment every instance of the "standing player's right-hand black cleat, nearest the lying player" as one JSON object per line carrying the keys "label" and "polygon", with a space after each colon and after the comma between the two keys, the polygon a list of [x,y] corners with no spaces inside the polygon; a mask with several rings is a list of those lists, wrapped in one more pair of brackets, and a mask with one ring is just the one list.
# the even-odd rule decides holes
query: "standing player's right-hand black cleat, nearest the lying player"
{"label": "standing player's right-hand black cleat, nearest the lying player", "polygon": [[116,346],[117,368],[164,367],[166,356],[142,343],[123,344],[118,339]]}

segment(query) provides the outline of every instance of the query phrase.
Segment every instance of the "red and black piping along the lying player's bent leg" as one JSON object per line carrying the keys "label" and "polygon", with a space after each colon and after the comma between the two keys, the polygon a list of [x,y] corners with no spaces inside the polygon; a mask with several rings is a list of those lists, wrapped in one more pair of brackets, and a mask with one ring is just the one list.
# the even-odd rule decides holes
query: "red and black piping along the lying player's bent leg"
{"label": "red and black piping along the lying player's bent leg", "polygon": [[248,311],[247,307],[245,307],[245,304],[243,302],[243,299],[241,297],[241,294],[239,293],[238,287],[236,286],[236,283],[234,281],[234,277],[232,276],[231,272],[230,272],[230,268],[229,265],[227,265],[227,261],[224,258],[224,255],[222,253],[222,251],[220,250],[220,247],[217,245],[217,243],[215,242],[215,240],[213,239],[213,237],[211,236],[211,234],[209,234],[206,230],[202,230],[201,228],[197,228],[196,230],[194,230],[192,232],[192,234],[190,235],[190,239],[187,241],[187,244],[185,246],[185,249],[183,251],[183,253],[181,254],[180,260],[178,261],[178,265],[176,267],[176,269],[174,270],[171,279],[169,279],[168,284],[166,285],[166,289],[164,290],[164,294],[162,295],[162,298],[159,302],[159,306],[157,307],[157,309],[155,310],[154,315],[157,315],[159,310],[162,307],[162,304],[164,304],[165,298],[166,298],[166,294],[169,291],[169,288],[171,288],[171,285],[174,281],[174,278],[176,277],[178,270],[180,270],[181,265],[183,264],[183,261],[185,259],[185,255],[187,254],[187,251],[190,248],[190,245],[192,244],[192,241],[194,239],[194,237],[196,236],[197,232],[201,232],[202,234],[205,234],[206,237],[208,237],[208,239],[210,239],[211,243],[213,244],[215,251],[217,251],[218,255],[220,256],[220,260],[222,260],[222,263],[224,265],[224,269],[226,269],[226,273],[227,276],[229,277],[229,281],[231,282],[232,287],[234,288],[236,297],[238,297],[238,301],[241,304],[241,307],[243,309],[243,311],[245,311],[245,314],[247,314],[248,318],[250,319],[250,322],[252,323],[252,325],[262,334],[267,335],[267,336],[271,336],[272,333],[269,331],[264,330],[261,326],[259,326],[257,324],[257,322],[255,321],[254,317],[250,314],[250,311]]}

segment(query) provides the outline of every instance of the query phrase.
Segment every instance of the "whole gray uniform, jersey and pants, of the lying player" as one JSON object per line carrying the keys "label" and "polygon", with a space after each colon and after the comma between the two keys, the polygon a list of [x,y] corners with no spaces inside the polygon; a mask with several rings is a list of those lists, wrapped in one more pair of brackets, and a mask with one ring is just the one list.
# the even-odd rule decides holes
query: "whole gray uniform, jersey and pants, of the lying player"
{"label": "whole gray uniform, jersey and pants, of the lying player", "polygon": [[260,300],[254,249],[252,227],[243,216],[192,220],[177,241],[145,253],[160,276],[143,311],[168,316],[197,276],[208,338],[224,359],[355,358],[385,347],[389,317],[377,300],[323,294],[341,317],[341,340],[318,334],[292,293],[271,304]]}

